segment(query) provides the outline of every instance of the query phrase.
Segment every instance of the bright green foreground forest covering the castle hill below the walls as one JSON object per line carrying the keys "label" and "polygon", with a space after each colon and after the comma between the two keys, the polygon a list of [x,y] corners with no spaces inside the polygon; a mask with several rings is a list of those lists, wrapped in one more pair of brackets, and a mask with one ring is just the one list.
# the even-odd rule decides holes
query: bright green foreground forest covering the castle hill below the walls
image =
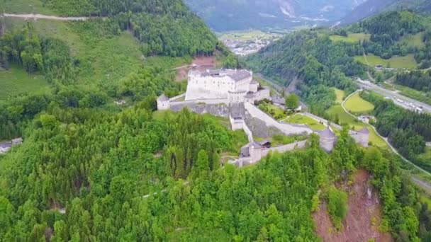
{"label": "bright green foreground forest covering the castle hill below the walls", "polygon": [[325,200],[318,190],[333,193],[330,184],[355,167],[375,174],[396,238],[425,236],[430,225],[424,214],[418,234],[417,214],[427,210],[396,159],[359,150],[347,129],[331,155],[312,137],[306,150],[238,169],[214,162],[237,134],[185,110],[155,119],[150,100],[121,113],[55,109],[32,125],[0,160],[5,241],[316,241],[313,197]]}

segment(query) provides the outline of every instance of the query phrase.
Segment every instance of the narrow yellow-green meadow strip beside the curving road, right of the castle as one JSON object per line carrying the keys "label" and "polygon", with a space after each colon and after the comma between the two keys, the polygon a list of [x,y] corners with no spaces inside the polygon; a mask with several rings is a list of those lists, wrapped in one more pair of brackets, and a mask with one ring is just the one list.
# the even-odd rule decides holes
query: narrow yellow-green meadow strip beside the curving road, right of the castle
{"label": "narrow yellow-green meadow strip beside the curving road, right of the castle", "polygon": [[[356,120],[354,117],[350,116],[348,113],[345,112],[345,110],[342,109],[341,105],[333,105],[328,111],[328,115],[331,117],[337,117],[340,119],[341,125],[348,125],[349,128],[354,129],[356,131],[359,131],[363,127],[366,127],[369,132],[369,141],[374,146],[378,146],[381,148],[388,149],[388,145],[386,142],[379,137],[379,135],[374,132],[374,129],[371,127],[371,125],[367,125],[364,122],[360,122],[359,120]],[[336,132],[337,133],[337,132]]]}

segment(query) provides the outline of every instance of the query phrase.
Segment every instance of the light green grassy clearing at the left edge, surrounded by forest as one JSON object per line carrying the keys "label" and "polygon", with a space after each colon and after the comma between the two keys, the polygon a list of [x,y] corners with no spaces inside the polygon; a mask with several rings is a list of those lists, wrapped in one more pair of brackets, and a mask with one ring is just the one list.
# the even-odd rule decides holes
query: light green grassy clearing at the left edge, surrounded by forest
{"label": "light green grassy clearing at the left edge, surrounded by forest", "polygon": [[30,75],[20,67],[11,67],[7,71],[0,71],[0,100],[7,96],[30,91],[47,90],[48,83],[42,75]]}

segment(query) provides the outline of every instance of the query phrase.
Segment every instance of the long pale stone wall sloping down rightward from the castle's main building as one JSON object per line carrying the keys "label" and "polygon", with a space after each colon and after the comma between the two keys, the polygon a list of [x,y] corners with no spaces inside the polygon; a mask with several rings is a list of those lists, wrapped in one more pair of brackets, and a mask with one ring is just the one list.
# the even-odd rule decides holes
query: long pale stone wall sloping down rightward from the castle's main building
{"label": "long pale stone wall sloping down rightward from the castle's main building", "polygon": [[286,135],[313,133],[313,130],[311,130],[309,127],[306,127],[306,126],[302,126],[302,125],[293,126],[287,123],[277,122],[272,117],[270,117],[269,115],[267,115],[266,113],[264,113],[262,110],[252,105],[251,103],[244,103],[244,105],[245,105],[245,109],[252,117],[256,117],[259,120],[264,121],[267,126],[273,126],[273,127],[276,127],[277,129],[280,129],[281,132],[284,132],[284,134]]}

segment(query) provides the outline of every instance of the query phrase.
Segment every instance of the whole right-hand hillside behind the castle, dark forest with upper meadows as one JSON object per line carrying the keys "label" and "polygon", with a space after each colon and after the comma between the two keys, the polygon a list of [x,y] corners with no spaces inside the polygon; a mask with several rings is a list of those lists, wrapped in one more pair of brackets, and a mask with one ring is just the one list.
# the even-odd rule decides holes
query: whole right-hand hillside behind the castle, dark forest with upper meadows
{"label": "whole right-hand hillside behind the castle, dark forest with upper meadows", "polygon": [[[374,68],[367,57],[377,59],[376,64],[388,62],[385,67],[430,67],[430,30],[428,18],[408,11],[388,12],[337,30],[292,33],[245,62],[284,85],[300,79],[299,93],[321,114],[319,110],[335,100],[328,87],[352,92],[356,88],[352,78],[364,76],[366,65]],[[401,57],[411,60],[399,62]]]}

